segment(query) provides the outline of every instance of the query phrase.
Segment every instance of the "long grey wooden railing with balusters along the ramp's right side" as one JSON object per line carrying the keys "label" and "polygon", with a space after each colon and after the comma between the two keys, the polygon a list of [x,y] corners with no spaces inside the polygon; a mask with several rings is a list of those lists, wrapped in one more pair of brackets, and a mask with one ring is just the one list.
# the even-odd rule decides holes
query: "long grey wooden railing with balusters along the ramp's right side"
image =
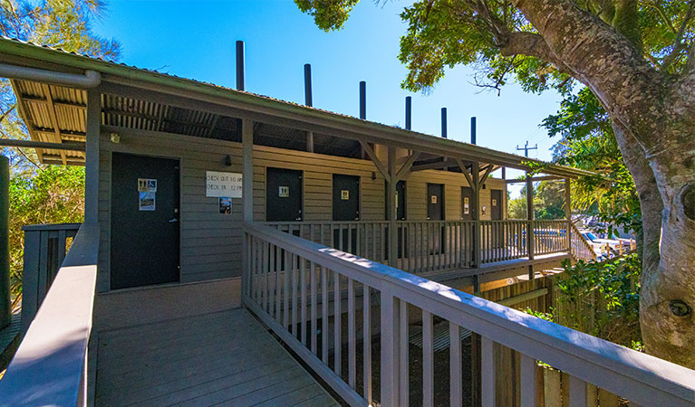
{"label": "long grey wooden railing with balusters along the ramp's right side", "polygon": [[[494,363],[498,346],[520,354],[520,405],[536,405],[537,361],[568,374],[569,405],[586,405],[588,383],[641,405],[691,406],[695,400],[695,371],[685,367],[265,225],[244,224],[244,240],[245,306],[351,405],[377,401],[376,364],[382,406],[408,405],[411,393],[420,394],[423,405],[433,405],[434,332],[442,324],[450,343],[449,369],[436,372],[438,382],[449,379],[442,403],[461,405],[465,397],[463,328],[480,337],[483,406],[498,404],[496,376],[504,373]],[[279,252],[284,253],[281,267],[271,255]],[[378,356],[372,354],[377,316]],[[409,356],[414,320],[421,323],[419,361]],[[410,380],[416,365],[421,383]]]}

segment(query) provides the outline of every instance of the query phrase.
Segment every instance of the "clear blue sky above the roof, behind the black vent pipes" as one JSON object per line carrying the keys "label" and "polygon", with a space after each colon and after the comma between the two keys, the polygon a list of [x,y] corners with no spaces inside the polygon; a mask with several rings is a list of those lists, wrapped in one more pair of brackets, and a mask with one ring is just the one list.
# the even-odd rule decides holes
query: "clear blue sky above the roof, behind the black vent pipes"
{"label": "clear blue sky above the roof, behind the black vent pipes", "polygon": [[[119,1],[93,24],[122,44],[121,62],[227,87],[235,86],[234,46],[246,42],[246,90],[304,103],[304,63],[312,64],[314,106],[357,116],[358,83],[367,81],[367,118],[404,127],[404,99],[412,96],[413,130],[439,135],[439,111],[448,109],[449,138],[469,140],[478,118],[478,145],[550,159],[554,139],[538,124],[558,109],[554,92],[526,94],[516,84],[482,90],[473,71],[459,66],[429,94],[401,90],[398,61],[408,1],[363,0],[342,31],[324,33],[292,0]],[[512,175],[507,175],[512,176]]]}

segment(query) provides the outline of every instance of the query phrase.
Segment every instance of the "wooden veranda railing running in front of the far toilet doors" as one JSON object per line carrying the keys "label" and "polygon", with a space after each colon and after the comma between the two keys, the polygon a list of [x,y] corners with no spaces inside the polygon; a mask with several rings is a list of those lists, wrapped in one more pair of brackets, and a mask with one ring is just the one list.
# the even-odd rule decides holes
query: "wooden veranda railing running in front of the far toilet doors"
{"label": "wooden veranda railing running in front of the far toilet doors", "polygon": [[[398,221],[396,263],[389,262],[389,222],[266,224],[309,241],[417,274],[467,269],[528,257],[528,221]],[[533,221],[533,224],[535,254],[569,251],[566,221]]]}

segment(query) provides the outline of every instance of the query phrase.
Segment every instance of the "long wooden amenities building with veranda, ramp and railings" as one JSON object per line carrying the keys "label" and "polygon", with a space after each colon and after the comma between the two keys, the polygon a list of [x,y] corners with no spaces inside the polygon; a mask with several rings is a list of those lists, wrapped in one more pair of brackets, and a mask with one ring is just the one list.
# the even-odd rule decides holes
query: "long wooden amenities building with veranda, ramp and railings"
{"label": "long wooden amenities building with veranda, ramp and railings", "polygon": [[[27,230],[38,277],[24,300],[41,307],[0,381],[11,404],[366,405],[375,365],[381,405],[406,404],[412,321],[425,405],[460,404],[467,369],[468,396],[495,405],[498,346],[521,356],[521,405],[542,391],[536,360],[572,377],[576,405],[596,385],[641,403],[693,400],[688,369],[457,289],[593,257],[569,210],[536,221],[529,201],[527,219],[507,219],[509,181],[491,176],[541,165],[532,191],[584,171],[256,95],[243,71],[230,90],[0,39],[0,76],[32,137],[5,145],[86,173],[67,257],[69,233]],[[50,250],[62,262],[53,284],[41,274]],[[442,329],[450,386],[435,397]],[[477,356],[462,358],[471,333]]]}

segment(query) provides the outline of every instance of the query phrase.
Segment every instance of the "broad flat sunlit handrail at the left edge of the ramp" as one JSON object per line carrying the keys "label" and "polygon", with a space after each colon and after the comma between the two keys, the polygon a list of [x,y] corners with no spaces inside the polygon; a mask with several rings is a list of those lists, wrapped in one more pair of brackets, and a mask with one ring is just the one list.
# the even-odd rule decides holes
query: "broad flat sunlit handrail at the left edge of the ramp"
{"label": "broad flat sunlit handrail at the left edge of the ramp", "polygon": [[84,223],[0,381],[3,404],[86,402],[98,254],[99,225]]}

